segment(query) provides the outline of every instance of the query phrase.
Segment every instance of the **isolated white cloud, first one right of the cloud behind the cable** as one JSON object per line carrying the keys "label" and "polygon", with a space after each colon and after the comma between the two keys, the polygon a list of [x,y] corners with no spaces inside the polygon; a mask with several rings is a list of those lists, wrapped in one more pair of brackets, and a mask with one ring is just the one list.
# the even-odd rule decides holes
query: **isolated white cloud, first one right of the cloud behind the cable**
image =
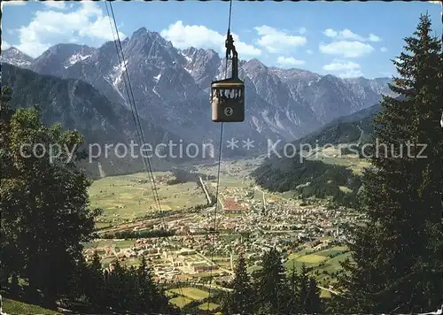
{"label": "isolated white cloud, first one right of the cloud behind the cable", "polygon": [[263,25],[254,27],[260,39],[257,43],[270,53],[279,53],[291,50],[295,47],[304,46],[307,38],[304,36],[289,35],[287,32],[279,31],[274,27]]}

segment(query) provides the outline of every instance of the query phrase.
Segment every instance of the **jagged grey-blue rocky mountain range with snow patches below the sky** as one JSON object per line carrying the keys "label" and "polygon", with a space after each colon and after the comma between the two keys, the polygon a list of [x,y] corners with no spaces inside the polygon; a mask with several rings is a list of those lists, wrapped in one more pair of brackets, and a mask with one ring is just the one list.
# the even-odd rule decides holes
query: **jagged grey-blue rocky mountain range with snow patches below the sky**
{"label": "jagged grey-blue rocky mountain range with snow patches below the sky", "polygon": [[[177,134],[186,142],[218,144],[220,124],[210,119],[208,93],[211,81],[224,78],[225,60],[214,50],[193,47],[178,50],[144,27],[122,41],[121,47],[125,60],[117,55],[115,42],[105,42],[99,48],[62,43],[38,58],[10,48],[2,51],[0,62],[37,75],[84,81],[91,87],[91,95],[104,96],[105,104],[117,112],[123,111],[122,108],[127,112],[130,108],[123,80],[127,69],[136,106],[148,130]],[[246,119],[244,123],[225,127],[224,139],[236,138],[241,146],[241,140],[250,138],[254,141],[254,152],[266,150],[268,139],[294,141],[333,119],[377,104],[381,94],[392,93],[387,86],[388,78],[340,79],[330,74],[267,66],[257,59],[241,60],[239,76],[245,81]],[[9,83],[7,78],[3,81]],[[51,98],[48,102],[52,102]],[[90,104],[86,102],[84,106]],[[82,118],[76,117],[77,111],[64,115],[70,116],[70,121],[82,121],[91,130],[102,128],[102,122],[107,121],[106,117],[97,116],[96,111]],[[147,138],[153,141],[150,133]],[[252,151],[239,148],[236,152],[245,155]],[[233,154],[228,150],[223,152],[223,156]]]}

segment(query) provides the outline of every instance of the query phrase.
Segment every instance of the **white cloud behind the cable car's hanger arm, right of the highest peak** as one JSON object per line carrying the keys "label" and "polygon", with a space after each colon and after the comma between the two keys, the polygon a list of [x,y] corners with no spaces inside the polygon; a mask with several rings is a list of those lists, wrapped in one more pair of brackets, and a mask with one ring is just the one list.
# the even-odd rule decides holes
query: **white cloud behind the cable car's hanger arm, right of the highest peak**
{"label": "white cloud behind the cable car's hanger arm, right of the highest peak", "polygon": [[[175,24],[171,24],[166,29],[163,29],[160,35],[167,39],[167,41],[172,42],[178,49],[193,46],[195,48],[213,49],[219,52],[221,56],[225,54],[224,42],[226,36],[204,26],[183,25],[183,22],[179,20]],[[238,51],[239,58],[242,58],[242,56],[249,58],[260,56],[260,49],[245,42],[240,42],[235,34],[232,37],[234,37],[234,45]]]}

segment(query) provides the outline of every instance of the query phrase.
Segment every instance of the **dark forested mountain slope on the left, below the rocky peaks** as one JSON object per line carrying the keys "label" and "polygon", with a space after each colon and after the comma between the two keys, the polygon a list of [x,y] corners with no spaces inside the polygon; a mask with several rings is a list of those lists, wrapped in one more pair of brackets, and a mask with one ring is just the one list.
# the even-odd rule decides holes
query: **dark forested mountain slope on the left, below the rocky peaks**
{"label": "dark forested mountain slope on the left, below the rocky peaks", "polygon": [[[61,123],[66,129],[81,132],[85,139],[85,149],[89,150],[90,145],[90,152],[99,155],[93,163],[84,165],[92,175],[99,175],[97,162],[101,165],[102,173],[107,175],[143,170],[143,160],[137,147],[134,156],[131,156],[130,151],[125,155],[123,150],[117,151],[120,157],[115,154],[118,143],[124,143],[128,150],[131,140],[139,143],[131,112],[121,104],[108,100],[89,83],[64,80],[5,64],[2,67],[2,85],[9,85],[13,90],[12,107],[28,108],[37,105],[42,111],[43,123]],[[158,143],[180,141],[177,135],[144,119],[141,119],[141,124],[145,141],[154,148]],[[107,150],[108,153],[105,144],[113,145]],[[133,158],[136,156],[139,158]],[[152,156],[152,165],[156,168],[166,167],[170,163],[171,160]]]}

